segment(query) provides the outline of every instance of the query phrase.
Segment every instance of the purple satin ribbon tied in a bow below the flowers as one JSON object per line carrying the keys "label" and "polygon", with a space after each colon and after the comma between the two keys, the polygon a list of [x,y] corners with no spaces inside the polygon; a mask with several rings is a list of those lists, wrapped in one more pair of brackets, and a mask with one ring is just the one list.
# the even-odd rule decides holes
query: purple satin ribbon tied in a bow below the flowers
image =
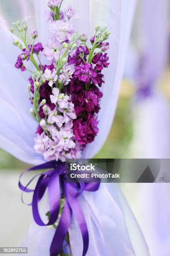
{"label": "purple satin ribbon tied in a bow below the flowers", "polygon": [[[61,161],[50,161],[45,164],[34,166],[20,175],[20,179],[26,172],[36,171],[41,169],[50,169],[41,174],[35,175],[26,186],[23,186],[19,180],[19,187],[23,192],[33,192],[32,203],[32,213],[35,222],[40,226],[53,225],[60,212],[60,196],[65,196],[65,205],[62,210],[62,215],[58,223],[57,229],[55,231],[52,243],[50,246],[50,256],[56,256],[60,253],[63,241],[67,234],[68,228],[72,220],[72,213],[75,215],[77,222],[80,227],[83,240],[83,252],[82,256],[87,253],[89,245],[89,235],[87,230],[87,225],[85,222],[85,217],[82,212],[80,202],[77,199],[82,192],[89,191],[94,192],[99,189],[100,183],[69,183],[67,182],[65,163]],[[28,189],[30,183],[39,176],[35,189]],[[50,217],[48,223],[45,224],[38,210],[38,202],[42,199],[45,190],[48,187],[49,202],[50,202]],[[60,189],[61,187],[61,189]],[[23,193],[22,193],[23,201]]]}

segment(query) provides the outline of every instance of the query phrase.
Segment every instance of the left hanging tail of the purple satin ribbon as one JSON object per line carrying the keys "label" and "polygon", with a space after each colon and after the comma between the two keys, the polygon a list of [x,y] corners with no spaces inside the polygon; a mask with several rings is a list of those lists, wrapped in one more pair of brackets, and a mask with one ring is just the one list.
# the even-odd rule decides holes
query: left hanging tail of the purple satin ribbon
{"label": "left hanging tail of the purple satin ribbon", "polygon": [[71,218],[72,212],[66,200],[60,221],[52,239],[52,243],[50,246],[50,256],[57,256],[60,253],[68,228],[71,224]]}

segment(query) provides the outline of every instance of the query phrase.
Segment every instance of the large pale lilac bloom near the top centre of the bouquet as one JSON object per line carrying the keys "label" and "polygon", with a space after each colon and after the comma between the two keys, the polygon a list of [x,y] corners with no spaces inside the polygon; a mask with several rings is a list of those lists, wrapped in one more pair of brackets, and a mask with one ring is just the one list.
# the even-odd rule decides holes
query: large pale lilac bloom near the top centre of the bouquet
{"label": "large pale lilac bloom near the top centre of the bouquet", "polygon": [[51,33],[57,38],[58,41],[64,42],[71,40],[72,34],[75,33],[73,25],[63,20],[56,20],[50,24]]}

